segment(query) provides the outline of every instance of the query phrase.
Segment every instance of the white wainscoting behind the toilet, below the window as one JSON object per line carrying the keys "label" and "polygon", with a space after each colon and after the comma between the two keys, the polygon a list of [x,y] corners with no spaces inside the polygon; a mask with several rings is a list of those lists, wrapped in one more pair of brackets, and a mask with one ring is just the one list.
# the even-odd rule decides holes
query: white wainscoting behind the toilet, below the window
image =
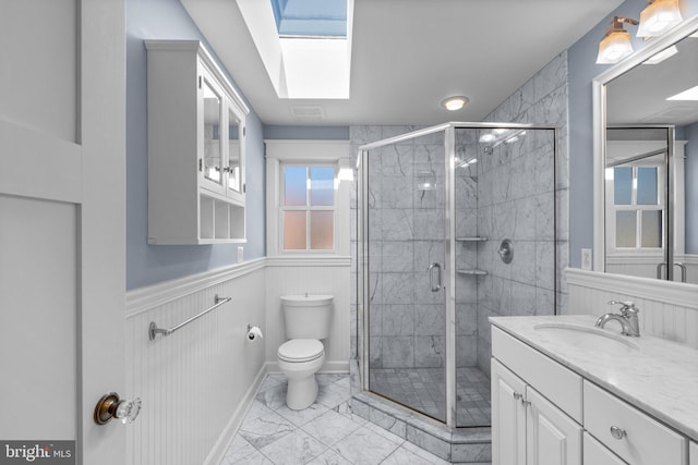
{"label": "white wainscoting behind the toilet, below the window", "polygon": [[270,257],[267,258],[266,362],[269,371],[278,371],[276,352],[285,341],[281,295],[334,295],[332,330],[325,344],[323,371],[349,371],[351,257]]}

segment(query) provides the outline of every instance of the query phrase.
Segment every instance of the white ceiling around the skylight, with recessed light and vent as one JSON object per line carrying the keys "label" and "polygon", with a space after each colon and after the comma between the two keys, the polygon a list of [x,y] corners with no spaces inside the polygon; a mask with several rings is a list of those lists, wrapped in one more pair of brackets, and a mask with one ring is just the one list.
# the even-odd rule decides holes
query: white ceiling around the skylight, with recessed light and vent
{"label": "white ceiling around the skylight, with recessed light and vent", "polygon": [[[260,119],[279,125],[481,121],[623,2],[354,0],[350,98],[318,100],[276,96],[234,0],[181,1]],[[452,95],[470,101],[448,112]]]}

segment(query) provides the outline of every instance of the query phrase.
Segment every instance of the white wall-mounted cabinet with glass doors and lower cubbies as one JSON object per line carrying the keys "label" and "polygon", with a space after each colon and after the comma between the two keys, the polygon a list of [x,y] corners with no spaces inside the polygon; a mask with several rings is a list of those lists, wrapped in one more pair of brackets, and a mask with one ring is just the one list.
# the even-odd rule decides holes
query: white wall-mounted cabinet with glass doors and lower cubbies
{"label": "white wall-mounted cabinet with glass doors and lower cubbies", "polygon": [[148,244],[245,242],[245,117],[198,40],[146,40]]}

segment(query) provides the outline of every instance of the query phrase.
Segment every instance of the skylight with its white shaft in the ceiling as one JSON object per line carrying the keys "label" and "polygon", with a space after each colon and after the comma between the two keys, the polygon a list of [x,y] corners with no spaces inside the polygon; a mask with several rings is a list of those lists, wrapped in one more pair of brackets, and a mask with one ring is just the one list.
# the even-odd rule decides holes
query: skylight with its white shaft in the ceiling
{"label": "skylight with its white shaft in the ceiling", "polygon": [[349,98],[353,0],[237,2],[279,98]]}

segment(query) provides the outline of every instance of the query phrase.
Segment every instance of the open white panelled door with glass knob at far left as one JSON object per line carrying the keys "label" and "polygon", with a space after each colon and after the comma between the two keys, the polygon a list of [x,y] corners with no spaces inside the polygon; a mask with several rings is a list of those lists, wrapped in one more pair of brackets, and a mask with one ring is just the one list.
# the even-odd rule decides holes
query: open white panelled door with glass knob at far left
{"label": "open white panelled door with glass knob at far left", "polygon": [[125,394],[124,17],[0,5],[0,441],[75,441],[67,463],[127,462],[123,427],[93,420]]}

